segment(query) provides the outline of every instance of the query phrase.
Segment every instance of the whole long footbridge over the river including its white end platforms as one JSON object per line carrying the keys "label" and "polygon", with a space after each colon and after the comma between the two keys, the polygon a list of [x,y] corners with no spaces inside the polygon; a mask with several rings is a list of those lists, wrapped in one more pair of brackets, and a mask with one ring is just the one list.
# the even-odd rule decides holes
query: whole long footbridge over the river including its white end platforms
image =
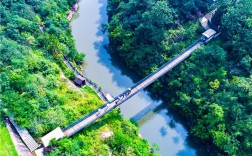
{"label": "whole long footbridge over the river including its white end platforms", "polygon": [[183,60],[188,58],[194,50],[196,50],[201,45],[205,44],[206,42],[210,41],[211,39],[213,39],[219,35],[219,33],[216,34],[215,31],[213,31],[213,30],[209,31],[209,30],[207,30],[205,33],[211,32],[211,35],[207,34],[205,36],[203,33],[203,36],[201,37],[201,39],[194,42],[192,45],[190,45],[185,50],[180,52],[173,59],[166,62],[164,65],[159,67],[156,71],[154,71],[150,75],[146,76],[144,79],[140,80],[139,82],[134,84],[132,87],[128,88],[123,93],[119,94],[115,98],[110,99],[107,103],[103,104],[102,106],[100,106],[96,110],[92,111],[88,115],[78,119],[74,123],[67,126],[65,129],[61,130],[58,127],[55,130],[53,130],[52,132],[50,132],[47,135],[45,135],[44,137],[42,137],[41,140],[42,140],[42,143],[44,144],[44,146],[45,147],[48,146],[50,140],[53,138],[60,139],[64,136],[71,137],[75,133],[79,132],[83,128],[92,124],[97,119],[101,118],[102,116],[104,116],[105,114],[110,112],[111,110],[115,109],[116,107],[118,107],[119,105],[124,103],[126,100],[128,100],[129,98],[131,98],[132,96],[137,94],[142,89],[149,86],[151,83],[156,81],[159,77],[163,76],[168,71],[170,71],[172,68],[174,68],[179,63],[181,63]]}

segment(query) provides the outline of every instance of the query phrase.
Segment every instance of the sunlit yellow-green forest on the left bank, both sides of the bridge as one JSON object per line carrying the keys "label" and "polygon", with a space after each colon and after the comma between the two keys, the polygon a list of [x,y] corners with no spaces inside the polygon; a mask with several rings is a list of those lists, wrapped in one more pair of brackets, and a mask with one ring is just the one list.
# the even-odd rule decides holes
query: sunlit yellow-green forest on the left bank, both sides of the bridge
{"label": "sunlit yellow-green forest on the left bank, both sides of the bridge", "polygon": [[[76,0],[0,2],[1,118],[14,116],[37,141],[102,104],[90,87],[76,89],[67,83],[66,77],[74,75],[63,63],[63,56],[76,65],[84,57],[75,49],[66,18],[74,3]],[[103,132],[113,135],[104,138]],[[52,141],[46,154],[155,155],[138,135],[136,125],[114,110],[75,136]]]}

